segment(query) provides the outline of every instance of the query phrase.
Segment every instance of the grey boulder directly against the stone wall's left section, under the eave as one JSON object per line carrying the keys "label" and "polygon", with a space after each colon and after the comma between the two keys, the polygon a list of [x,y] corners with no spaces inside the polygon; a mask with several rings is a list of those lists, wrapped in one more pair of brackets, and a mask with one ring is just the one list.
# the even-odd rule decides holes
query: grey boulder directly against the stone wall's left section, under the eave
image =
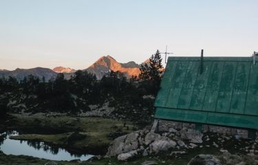
{"label": "grey boulder directly against the stone wall's left section, under the eave", "polygon": [[180,137],[184,140],[190,140],[193,143],[202,143],[203,134],[200,131],[194,129],[182,129],[180,132]]}

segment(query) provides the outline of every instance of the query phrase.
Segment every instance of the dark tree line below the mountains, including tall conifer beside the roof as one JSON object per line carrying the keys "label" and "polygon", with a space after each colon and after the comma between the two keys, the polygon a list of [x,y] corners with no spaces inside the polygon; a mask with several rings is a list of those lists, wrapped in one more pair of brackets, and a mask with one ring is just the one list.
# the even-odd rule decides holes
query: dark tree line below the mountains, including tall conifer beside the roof
{"label": "dark tree line below the mountains, including tall conifer beside the roof", "polygon": [[109,100],[122,118],[151,116],[154,100],[144,99],[144,96],[157,94],[163,70],[162,58],[157,51],[149,58],[149,63],[140,67],[140,75],[129,80],[122,73],[113,71],[97,80],[94,74],[81,70],[69,80],[63,74],[48,82],[44,77],[40,79],[32,75],[21,81],[13,77],[0,78],[1,113],[9,110],[3,107],[8,107],[12,97],[35,112],[78,113],[89,111],[89,104],[103,104]]}

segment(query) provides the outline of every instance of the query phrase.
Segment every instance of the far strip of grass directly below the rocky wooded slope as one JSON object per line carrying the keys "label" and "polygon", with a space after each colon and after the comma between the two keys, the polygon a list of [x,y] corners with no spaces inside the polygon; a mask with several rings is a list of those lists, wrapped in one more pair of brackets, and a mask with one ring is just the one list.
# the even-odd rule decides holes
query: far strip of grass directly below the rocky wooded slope
{"label": "far strip of grass directly below the rocky wooded slope", "polygon": [[[13,126],[19,127],[47,127],[52,129],[61,129],[61,131],[80,130],[84,132],[114,132],[118,129],[121,131],[130,132],[132,128],[131,122],[127,122],[129,131],[123,127],[123,122],[118,120],[111,120],[107,118],[75,118],[67,115],[57,117],[45,116],[26,116],[19,114],[12,114]],[[78,119],[78,120],[77,120]]]}

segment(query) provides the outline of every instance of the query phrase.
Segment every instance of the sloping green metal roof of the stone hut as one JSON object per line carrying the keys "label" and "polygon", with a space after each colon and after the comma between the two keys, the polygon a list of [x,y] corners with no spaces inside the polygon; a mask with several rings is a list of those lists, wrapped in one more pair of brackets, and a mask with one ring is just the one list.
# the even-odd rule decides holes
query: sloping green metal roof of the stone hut
{"label": "sloping green metal roof of the stone hut", "polygon": [[258,64],[251,57],[169,57],[155,118],[258,129]]}

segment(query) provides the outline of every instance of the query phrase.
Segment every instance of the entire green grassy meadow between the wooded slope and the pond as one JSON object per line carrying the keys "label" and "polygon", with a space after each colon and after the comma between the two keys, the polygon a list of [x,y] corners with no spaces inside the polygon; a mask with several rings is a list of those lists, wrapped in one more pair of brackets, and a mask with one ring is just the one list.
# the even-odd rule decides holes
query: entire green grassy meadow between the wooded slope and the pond
{"label": "entire green grassy meadow between the wooded slope and the pond", "polygon": [[[11,137],[14,140],[42,141],[78,153],[104,154],[113,140],[111,133],[130,133],[133,125],[106,118],[75,118],[70,116],[44,117],[12,114],[8,130],[17,130],[23,134]],[[78,132],[85,138],[68,143],[69,137]]]}

